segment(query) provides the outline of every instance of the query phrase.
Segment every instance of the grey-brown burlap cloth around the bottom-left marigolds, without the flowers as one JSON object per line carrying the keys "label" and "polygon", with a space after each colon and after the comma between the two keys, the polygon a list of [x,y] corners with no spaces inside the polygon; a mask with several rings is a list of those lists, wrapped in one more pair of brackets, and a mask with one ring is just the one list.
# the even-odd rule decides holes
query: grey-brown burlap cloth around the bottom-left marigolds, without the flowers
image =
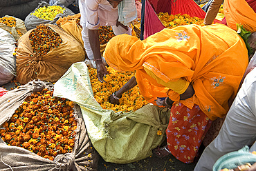
{"label": "grey-brown burlap cloth around the bottom-left marigolds, without the flowers", "polygon": [[[19,89],[14,89],[0,98],[0,125],[10,119],[15,110],[19,108],[26,97],[32,92],[53,88],[52,83],[43,81],[31,81]],[[0,170],[42,171],[42,170],[93,170],[98,168],[99,155],[91,145],[80,108],[75,105],[75,118],[77,130],[75,146],[71,153],[60,154],[54,161],[39,157],[37,154],[24,148],[7,145],[0,137]],[[91,157],[88,155],[91,153]]]}

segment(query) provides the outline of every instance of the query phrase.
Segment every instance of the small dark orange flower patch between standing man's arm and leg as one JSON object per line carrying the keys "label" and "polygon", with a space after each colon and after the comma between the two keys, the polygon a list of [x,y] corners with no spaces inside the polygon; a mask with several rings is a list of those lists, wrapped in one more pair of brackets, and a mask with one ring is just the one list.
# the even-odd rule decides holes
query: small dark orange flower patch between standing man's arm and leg
{"label": "small dark orange flower patch between standing man's arm and leg", "polygon": [[113,34],[111,26],[100,26],[98,31],[101,45],[108,43],[109,40],[115,36],[115,34]]}

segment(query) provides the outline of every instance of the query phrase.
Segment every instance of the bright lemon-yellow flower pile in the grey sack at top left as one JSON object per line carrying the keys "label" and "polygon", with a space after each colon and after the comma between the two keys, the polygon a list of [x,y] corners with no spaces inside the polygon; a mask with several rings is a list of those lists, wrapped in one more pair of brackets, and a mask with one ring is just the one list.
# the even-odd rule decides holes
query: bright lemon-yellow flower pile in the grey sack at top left
{"label": "bright lemon-yellow flower pile in the grey sack at top left", "polygon": [[62,8],[61,6],[47,6],[47,7],[44,6],[44,7],[38,8],[32,14],[39,19],[46,19],[46,20],[53,21],[56,15],[63,13],[64,10],[65,8]]}

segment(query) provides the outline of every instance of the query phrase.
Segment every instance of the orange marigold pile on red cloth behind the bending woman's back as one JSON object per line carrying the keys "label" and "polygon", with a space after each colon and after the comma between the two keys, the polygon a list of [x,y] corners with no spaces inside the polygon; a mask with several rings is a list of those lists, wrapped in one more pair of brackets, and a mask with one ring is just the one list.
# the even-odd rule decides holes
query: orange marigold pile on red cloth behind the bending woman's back
{"label": "orange marigold pile on red cloth behind the bending woman's back", "polygon": [[199,26],[205,26],[203,19],[199,17],[190,17],[189,14],[168,14],[167,12],[160,12],[157,14],[158,18],[166,28],[175,28],[176,26],[184,26],[189,24],[197,24]]}

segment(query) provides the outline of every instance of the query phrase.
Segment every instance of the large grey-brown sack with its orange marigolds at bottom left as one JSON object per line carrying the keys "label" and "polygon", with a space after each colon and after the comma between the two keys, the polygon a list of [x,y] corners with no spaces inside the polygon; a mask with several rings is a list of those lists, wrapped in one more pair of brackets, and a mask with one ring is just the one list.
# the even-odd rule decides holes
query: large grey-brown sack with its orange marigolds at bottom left
{"label": "large grey-brown sack with its orange marigolds at bottom left", "polygon": [[97,170],[78,105],[34,80],[0,98],[2,170]]}

